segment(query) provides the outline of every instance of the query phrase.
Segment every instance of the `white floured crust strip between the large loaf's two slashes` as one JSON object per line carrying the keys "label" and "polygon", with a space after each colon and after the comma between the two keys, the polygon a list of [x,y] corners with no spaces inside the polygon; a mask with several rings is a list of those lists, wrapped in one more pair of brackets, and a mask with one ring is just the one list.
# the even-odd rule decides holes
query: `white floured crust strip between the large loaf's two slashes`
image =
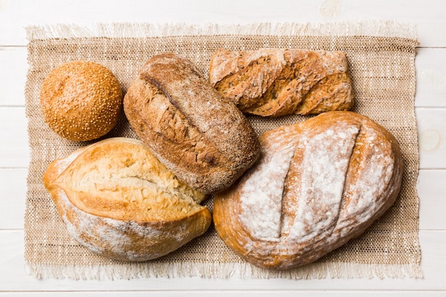
{"label": "white floured crust strip between the large loaf's two slashes", "polygon": [[304,147],[301,197],[289,240],[302,242],[331,231],[359,127],[343,123],[299,145]]}

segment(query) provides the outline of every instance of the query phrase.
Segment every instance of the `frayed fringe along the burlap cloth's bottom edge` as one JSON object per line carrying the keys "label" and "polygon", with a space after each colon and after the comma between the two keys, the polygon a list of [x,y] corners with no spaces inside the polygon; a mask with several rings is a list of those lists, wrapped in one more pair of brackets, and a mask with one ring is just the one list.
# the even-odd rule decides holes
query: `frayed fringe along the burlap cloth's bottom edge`
{"label": "frayed fringe along the burlap cloth's bottom edge", "polygon": [[28,273],[36,278],[71,278],[76,280],[132,279],[152,277],[200,278],[422,278],[418,265],[315,263],[287,271],[259,269],[247,263],[175,263],[114,264],[110,266],[56,266],[28,264]]}

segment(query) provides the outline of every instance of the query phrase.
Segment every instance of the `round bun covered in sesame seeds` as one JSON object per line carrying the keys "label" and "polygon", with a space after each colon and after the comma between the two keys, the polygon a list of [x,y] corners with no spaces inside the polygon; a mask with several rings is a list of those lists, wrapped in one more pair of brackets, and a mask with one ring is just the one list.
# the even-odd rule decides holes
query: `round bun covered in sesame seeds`
{"label": "round bun covered in sesame seeds", "polygon": [[43,119],[58,135],[74,141],[107,134],[118,121],[123,93],[113,73],[90,61],[73,61],[53,69],[43,80]]}

